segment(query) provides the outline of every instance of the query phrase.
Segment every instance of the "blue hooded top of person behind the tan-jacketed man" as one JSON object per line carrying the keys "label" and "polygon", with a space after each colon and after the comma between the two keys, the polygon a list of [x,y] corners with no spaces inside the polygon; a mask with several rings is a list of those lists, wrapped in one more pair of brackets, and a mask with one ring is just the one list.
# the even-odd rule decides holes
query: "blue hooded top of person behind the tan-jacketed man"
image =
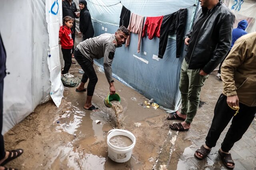
{"label": "blue hooded top of person behind the tan-jacketed man", "polygon": [[233,29],[233,31],[232,31],[232,43],[231,43],[230,49],[233,47],[234,43],[236,42],[236,40],[238,38],[247,34],[247,32],[244,31],[246,29],[247,25],[248,25],[247,21],[242,20],[238,23],[237,28]]}

